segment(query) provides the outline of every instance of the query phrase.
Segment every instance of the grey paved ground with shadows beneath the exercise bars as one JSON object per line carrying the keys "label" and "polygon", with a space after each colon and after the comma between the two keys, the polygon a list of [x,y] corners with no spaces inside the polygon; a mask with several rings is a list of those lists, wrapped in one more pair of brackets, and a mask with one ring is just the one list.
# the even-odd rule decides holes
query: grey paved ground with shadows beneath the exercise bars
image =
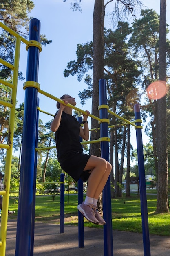
{"label": "grey paved ground with shadows beneath the exercise bars", "polygon": [[[15,256],[16,220],[8,220],[6,256]],[[170,255],[170,236],[150,235],[151,256]],[[144,256],[142,234],[113,231],[114,256]],[[24,256],[24,255],[23,255]],[[34,256],[104,256],[103,229],[84,228],[84,248],[78,247],[78,227],[35,222]],[[105,255],[106,256],[106,255]]]}

